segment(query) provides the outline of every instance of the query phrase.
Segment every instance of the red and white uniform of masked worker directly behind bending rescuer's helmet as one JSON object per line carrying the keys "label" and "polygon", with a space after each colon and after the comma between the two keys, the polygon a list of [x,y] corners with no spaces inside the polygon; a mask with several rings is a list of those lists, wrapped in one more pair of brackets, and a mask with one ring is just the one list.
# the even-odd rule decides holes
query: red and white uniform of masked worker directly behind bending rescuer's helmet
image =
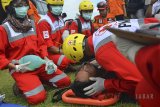
{"label": "red and white uniform of masked worker directly behind bending rescuer's helmet", "polygon": [[[94,27],[91,21],[85,21],[83,17],[79,16],[81,22],[82,34],[89,37],[93,35]],[[71,34],[78,33],[78,22],[75,20],[70,25]]]}

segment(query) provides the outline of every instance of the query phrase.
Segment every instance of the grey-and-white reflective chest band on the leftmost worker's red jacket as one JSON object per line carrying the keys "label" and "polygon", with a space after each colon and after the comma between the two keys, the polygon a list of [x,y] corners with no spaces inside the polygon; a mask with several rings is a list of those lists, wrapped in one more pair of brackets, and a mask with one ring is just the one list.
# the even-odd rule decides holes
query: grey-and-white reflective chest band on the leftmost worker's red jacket
{"label": "grey-and-white reflective chest band on the leftmost worker's red jacket", "polygon": [[24,37],[31,36],[31,35],[36,36],[36,32],[34,30],[35,27],[34,27],[33,23],[32,23],[33,28],[31,30],[29,30],[27,33],[15,32],[12,29],[12,27],[9,25],[8,22],[4,23],[2,26],[5,28],[5,30],[7,32],[9,42],[13,42],[13,41],[16,41],[16,40],[19,40],[19,39],[22,39]]}

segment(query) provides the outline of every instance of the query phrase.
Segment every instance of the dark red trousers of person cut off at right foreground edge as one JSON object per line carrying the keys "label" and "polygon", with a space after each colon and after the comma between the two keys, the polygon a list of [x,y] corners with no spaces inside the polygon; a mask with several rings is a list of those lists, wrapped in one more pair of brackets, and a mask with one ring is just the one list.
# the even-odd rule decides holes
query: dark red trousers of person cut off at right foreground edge
{"label": "dark red trousers of person cut off at right foreground edge", "polygon": [[136,55],[136,65],[144,77],[136,89],[142,107],[160,105],[160,45],[146,46]]}

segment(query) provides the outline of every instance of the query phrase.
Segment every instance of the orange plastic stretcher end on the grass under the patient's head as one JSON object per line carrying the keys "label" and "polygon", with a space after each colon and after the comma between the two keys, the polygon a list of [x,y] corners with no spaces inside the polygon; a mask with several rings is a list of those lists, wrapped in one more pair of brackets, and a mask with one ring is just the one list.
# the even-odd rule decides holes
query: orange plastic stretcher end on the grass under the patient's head
{"label": "orange plastic stretcher end on the grass under the patient's head", "polygon": [[93,106],[109,106],[115,104],[119,97],[114,95],[111,98],[99,100],[99,99],[92,99],[92,98],[79,98],[76,97],[73,91],[70,89],[63,93],[62,100],[66,103],[71,104],[83,104],[83,105],[93,105]]}

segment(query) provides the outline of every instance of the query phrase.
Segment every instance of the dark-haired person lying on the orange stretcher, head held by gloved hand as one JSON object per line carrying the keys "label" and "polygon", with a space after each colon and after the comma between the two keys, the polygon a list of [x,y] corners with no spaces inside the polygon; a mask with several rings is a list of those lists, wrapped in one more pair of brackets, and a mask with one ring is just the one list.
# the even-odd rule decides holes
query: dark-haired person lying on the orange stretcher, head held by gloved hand
{"label": "dark-haired person lying on the orange stretcher, head held by gloved hand", "polygon": [[[82,65],[79,71],[76,73],[75,80],[71,85],[71,89],[77,97],[90,98],[90,96],[85,95],[83,90],[85,87],[94,83],[94,81],[89,80],[90,77],[102,77],[102,78],[116,78],[113,73],[108,73],[101,68],[98,68],[92,63],[86,62]],[[103,95],[102,95],[103,93]],[[107,92],[96,93],[91,96],[91,98],[104,99],[104,97],[111,97],[111,94],[105,94]],[[113,95],[113,93],[112,93]]]}

